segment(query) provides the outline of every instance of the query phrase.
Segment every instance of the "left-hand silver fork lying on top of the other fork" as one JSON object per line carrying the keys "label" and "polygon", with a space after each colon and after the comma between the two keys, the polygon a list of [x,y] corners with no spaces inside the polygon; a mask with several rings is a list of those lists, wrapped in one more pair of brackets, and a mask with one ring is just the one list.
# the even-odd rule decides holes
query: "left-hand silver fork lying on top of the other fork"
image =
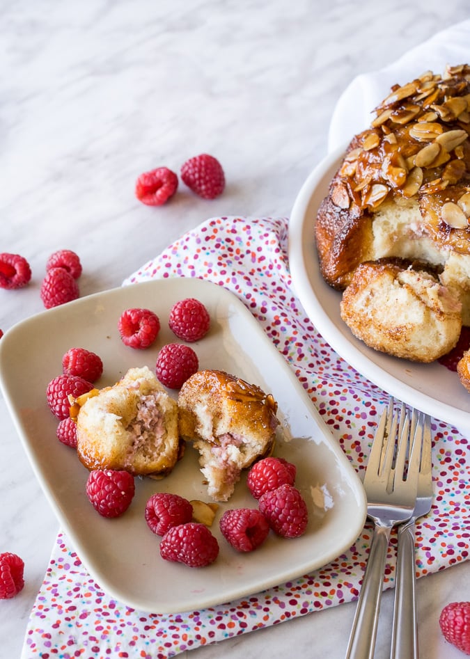
{"label": "left-hand silver fork lying on top of the other fork", "polygon": [[409,436],[409,425],[405,405],[397,413],[391,399],[380,418],[363,482],[367,515],[375,527],[346,659],[373,657],[391,529],[408,521],[414,510],[423,427],[416,424],[414,436]]}

